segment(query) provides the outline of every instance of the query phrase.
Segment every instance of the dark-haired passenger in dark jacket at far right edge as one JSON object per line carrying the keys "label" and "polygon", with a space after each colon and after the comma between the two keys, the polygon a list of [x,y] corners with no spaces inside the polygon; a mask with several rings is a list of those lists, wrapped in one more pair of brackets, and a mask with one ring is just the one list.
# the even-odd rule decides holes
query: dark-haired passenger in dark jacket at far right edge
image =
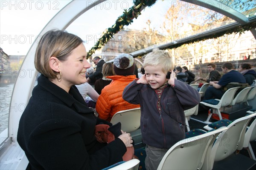
{"label": "dark-haired passenger in dark jacket at far right edge", "polygon": [[256,72],[251,69],[252,66],[250,64],[241,64],[238,68],[238,71],[244,76],[246,83],[249,85],[253,84],[253,80],[256,79]]}

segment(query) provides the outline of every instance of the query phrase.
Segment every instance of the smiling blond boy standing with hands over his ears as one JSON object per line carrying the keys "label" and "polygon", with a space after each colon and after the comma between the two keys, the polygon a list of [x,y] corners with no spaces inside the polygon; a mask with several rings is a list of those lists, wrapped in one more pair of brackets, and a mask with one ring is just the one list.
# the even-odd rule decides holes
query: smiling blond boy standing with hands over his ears
{"label": "smiling blond boy standing with hands over his ears", "polygon": [[[125,87],[123,99],[140,104],[145,166],[147,170],[156,170],[168,149],[185,138],[184,110],[195,107],[200,95],[175,78],[169,52],[154,49],[145,56],[143,67],[145,75]],[[166,78],[169,71],[171,76]]]}

